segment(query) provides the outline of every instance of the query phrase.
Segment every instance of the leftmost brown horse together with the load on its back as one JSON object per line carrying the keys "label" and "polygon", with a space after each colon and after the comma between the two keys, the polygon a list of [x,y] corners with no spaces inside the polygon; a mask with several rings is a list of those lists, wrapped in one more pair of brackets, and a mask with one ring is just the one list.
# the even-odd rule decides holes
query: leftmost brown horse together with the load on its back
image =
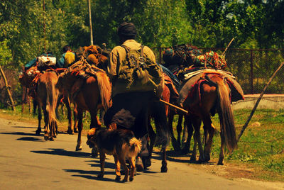
{"label": "leftmost brown horse together with the load on its back", "polygon": [[[31,62],[29,62],[31,63]],[[45,140],[54,140],[57,135],[57,121],[55,108],[58,101],[58,72],[55,70],[56,58],[40,55],[36,58],[34,66],[26,67],[19,77],[22,86],[29,89],[29,95],[38,102],[38,129],[35,134],[41,132],[41,110],[43,109],[45,121]],[[28,65],[30,66],[30,65]]]}

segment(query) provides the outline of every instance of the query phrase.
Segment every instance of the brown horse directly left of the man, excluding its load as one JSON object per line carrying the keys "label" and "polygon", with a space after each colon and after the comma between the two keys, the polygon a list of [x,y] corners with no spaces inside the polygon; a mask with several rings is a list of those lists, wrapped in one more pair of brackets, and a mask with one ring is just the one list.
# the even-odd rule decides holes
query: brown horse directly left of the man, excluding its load
{"label": "brown horse directly left of the man, excluding its load", "polygon": [[[72,95],[66,93],[65,84],[72,84]],[[65,97],[70,97],[75,104],[75,115],[77,115],[78,123],[78,138],[76,150],[82,150],[81,133],[83,128],[82,118],[83,112],[89,111],[91,115],[90,128],[99,128],[101,123],[97,118],[99,108],[107,110],[111,105],[111,84],[105,72],[97,72],[97,76],[89,76],[87,79],[82,77],[74,77],[72,73],[60,74],[58,79],[58,87],[65,94]],[[69,130],[69,129],[68,129]]]}

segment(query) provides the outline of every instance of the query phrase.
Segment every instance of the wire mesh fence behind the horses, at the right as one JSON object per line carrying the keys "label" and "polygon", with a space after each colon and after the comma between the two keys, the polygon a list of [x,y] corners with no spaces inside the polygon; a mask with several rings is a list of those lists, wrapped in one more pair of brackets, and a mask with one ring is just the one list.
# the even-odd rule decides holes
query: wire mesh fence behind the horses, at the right
{"label": "wire mesh fence behind the horses, at the right", "polygon": [[[159,63],[163,64],[163,50],[155,47],[154,52]],[[203,52],[210,50],[222,54],[224,48],[200,48]],[[284,49],[234,49],[226,50],[226,71],[231,72],[241,85],[244,94],[260,94],[273,72],[284,61]],[[266,89],[266,94],[284,94],[284,72],[278,72]]]}

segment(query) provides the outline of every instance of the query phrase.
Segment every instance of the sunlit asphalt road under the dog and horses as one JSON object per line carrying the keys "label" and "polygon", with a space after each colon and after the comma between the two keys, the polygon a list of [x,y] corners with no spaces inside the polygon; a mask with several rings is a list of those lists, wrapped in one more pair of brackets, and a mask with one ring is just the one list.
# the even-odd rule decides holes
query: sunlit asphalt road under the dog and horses
{"label": "sunlit asphalt road under the dog and horses", "polygon": [[35,130],[36,125],[0,118],[0,189],[271,189],[192,169],[187,162],[168,162],[168,173],[160,173],[157,154],[148,171],[126,183],[114,181],[109,156],[104,179],[97,179],[99,159],[89,156],[86,137],[83,150],[75,152],[77,135],[59,134],[51,142]]}

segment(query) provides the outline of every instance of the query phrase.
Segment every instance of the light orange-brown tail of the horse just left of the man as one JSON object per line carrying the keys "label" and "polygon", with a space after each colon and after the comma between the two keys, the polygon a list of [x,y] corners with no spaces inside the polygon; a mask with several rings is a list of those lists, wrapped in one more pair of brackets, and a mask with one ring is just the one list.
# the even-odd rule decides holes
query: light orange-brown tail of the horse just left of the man
{"label": "light orange-brown tail of the horse just left of the man", "polygon": [[104,107],[104,110],[107,111],[111,106],[111,83],[109,82],[109,77],[107,77],[107,74],[104,72],[97,72],[97,82],[102,106]]}

